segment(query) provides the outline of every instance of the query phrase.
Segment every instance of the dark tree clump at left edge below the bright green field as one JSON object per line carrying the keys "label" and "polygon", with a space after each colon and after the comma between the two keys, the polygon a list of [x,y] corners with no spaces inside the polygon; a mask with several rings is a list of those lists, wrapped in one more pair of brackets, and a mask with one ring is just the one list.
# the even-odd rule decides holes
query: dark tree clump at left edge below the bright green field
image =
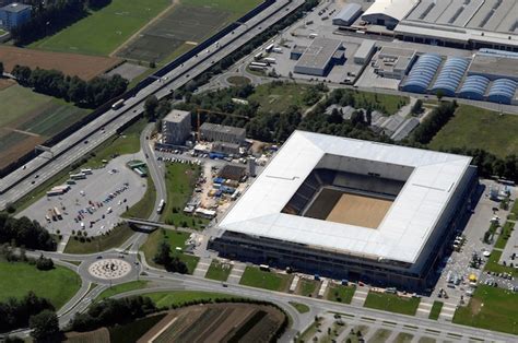
{"label": "dark tree clump at left edge below the bright green field", "polygon": [[46,309],[55,310],[48,299],[37,297],[33,292],[21,299],[8,298],[0,303],[0,332],[26,328],[32,316]]}

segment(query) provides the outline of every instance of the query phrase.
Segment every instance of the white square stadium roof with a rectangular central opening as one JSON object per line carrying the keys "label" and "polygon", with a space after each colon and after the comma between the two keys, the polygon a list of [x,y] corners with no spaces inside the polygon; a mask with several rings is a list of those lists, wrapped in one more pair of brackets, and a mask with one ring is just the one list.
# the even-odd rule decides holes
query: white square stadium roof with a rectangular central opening
{"label": "white square stadium roof with a rectangular central opening", "polygon": [[[378,228],[281,213],[325,155],[413,168]],[[295,131],[219,227],[317,249],[413,263],[470,162],[467,156]]]}

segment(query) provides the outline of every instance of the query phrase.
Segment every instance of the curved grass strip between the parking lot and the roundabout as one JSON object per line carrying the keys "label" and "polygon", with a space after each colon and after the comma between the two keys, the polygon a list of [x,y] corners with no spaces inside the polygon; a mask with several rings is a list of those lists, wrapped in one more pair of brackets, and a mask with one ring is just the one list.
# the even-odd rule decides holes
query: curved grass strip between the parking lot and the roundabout
{"label": "curved grass strip between the parking lot and the roundabout", "polygon": [[79,239],[70,237],[64,252],[67,253],[94,253],[111,248],[117,248],[128,240],[134,232],[128,225],[120,225],[114,228],[109,235],[91,237],[91,241],[81,243]]}

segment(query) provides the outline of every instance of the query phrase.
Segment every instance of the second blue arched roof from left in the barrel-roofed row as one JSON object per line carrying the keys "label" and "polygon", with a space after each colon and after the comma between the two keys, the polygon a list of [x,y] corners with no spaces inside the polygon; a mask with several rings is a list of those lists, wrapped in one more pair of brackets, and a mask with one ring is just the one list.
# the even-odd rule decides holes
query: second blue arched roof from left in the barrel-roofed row
{"label": "second blue arched roof from left in the barrel-roofed row", "polygon": [[455,96],[468,66],[469,61],[464,58],[448,57],[431,91],[434,94],[442,91],[446,96]]}

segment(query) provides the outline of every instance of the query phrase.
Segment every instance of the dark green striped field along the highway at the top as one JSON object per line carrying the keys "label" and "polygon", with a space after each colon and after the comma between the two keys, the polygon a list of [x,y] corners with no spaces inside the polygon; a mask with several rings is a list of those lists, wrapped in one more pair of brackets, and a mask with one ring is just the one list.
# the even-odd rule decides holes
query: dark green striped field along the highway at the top
{"label": "dark green striped field along the highway at the top", "polygon": [[125,45],[117,56],[149,62],[172,60],[259,3],[258,0],[183,0]]}

